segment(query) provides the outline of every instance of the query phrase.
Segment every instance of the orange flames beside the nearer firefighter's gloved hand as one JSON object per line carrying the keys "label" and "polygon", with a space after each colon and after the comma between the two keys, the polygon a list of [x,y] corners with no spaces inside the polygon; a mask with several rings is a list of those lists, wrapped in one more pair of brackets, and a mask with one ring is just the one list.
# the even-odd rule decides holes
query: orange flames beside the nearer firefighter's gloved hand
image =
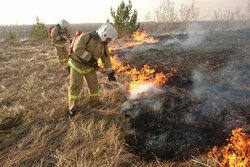
{"label": "orange flames beside the nearer firefighter's gloved hand", "polygon": [[121,61],[117,60],[117,56],[113,57],[111,61],[116,72],[122,73],[131,78],[131,82],[129,83],[131,89],[145,83],[152,83],[155,86],[160,86],[177,73],[176,68],[171,68],[168,74],[162,72],[156,73],[155,69],[148,65],[144,65],[142,69],[138,70],[129,65],[123,65]]}

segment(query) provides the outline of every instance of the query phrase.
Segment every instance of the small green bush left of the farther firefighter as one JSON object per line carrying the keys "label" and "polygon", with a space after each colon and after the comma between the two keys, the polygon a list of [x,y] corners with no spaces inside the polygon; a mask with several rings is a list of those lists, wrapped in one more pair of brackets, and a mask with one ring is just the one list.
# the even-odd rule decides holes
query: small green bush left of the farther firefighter
{"label": "small green bush left of the farther firefighter", "polygon": [[48,38],[47,27],[42,23],[39,17],[36,17],[36,24],[31,28],[31,38],[36,40],[45,40]]}

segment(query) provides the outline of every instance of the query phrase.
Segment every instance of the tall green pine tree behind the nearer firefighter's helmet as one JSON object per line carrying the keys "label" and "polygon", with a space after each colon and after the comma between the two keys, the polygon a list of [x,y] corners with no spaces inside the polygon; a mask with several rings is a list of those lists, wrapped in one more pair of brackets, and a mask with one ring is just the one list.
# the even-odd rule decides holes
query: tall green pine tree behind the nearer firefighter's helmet
{"label": "tall green pine tree behind the nearer firefighter's helmet", "polygon": [[120,36],[131,35],[139,29],[140,24],[137,23],[137,10],[134,9],[132,12],[131,0],[129,0],[128,5],[122,0],[116,12],[111,7],[110,13],[114,19],[114,26],[117,28]]}

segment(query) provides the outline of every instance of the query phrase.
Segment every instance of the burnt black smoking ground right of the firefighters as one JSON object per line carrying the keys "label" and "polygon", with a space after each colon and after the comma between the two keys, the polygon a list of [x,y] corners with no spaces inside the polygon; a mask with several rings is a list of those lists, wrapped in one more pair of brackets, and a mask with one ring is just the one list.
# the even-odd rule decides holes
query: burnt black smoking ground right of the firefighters
{"label": "burnt black smoking ground right of the firefighters", "polygon": [[249,134],[250,29],[157,38],[157,44],[119,51],[120,60],[135,67],[148,64],[165,73],[178,69],[161,93],[151,89],[124,103],[122,113],[131,121],[130,149],[147,160],[183,160],[227,144],[236,127]]}

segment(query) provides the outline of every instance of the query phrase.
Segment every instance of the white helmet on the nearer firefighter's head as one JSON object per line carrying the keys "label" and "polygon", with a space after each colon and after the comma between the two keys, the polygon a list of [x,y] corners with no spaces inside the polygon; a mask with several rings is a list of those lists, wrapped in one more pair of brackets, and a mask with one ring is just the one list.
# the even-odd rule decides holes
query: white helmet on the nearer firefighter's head
{"label": "white helmet on the nearer firefighter's head", "polygon": [[115,39],[118,36],[117,30],[110,23],[102,24],[97,33],[102,41],[105,41],[107,38]]}

